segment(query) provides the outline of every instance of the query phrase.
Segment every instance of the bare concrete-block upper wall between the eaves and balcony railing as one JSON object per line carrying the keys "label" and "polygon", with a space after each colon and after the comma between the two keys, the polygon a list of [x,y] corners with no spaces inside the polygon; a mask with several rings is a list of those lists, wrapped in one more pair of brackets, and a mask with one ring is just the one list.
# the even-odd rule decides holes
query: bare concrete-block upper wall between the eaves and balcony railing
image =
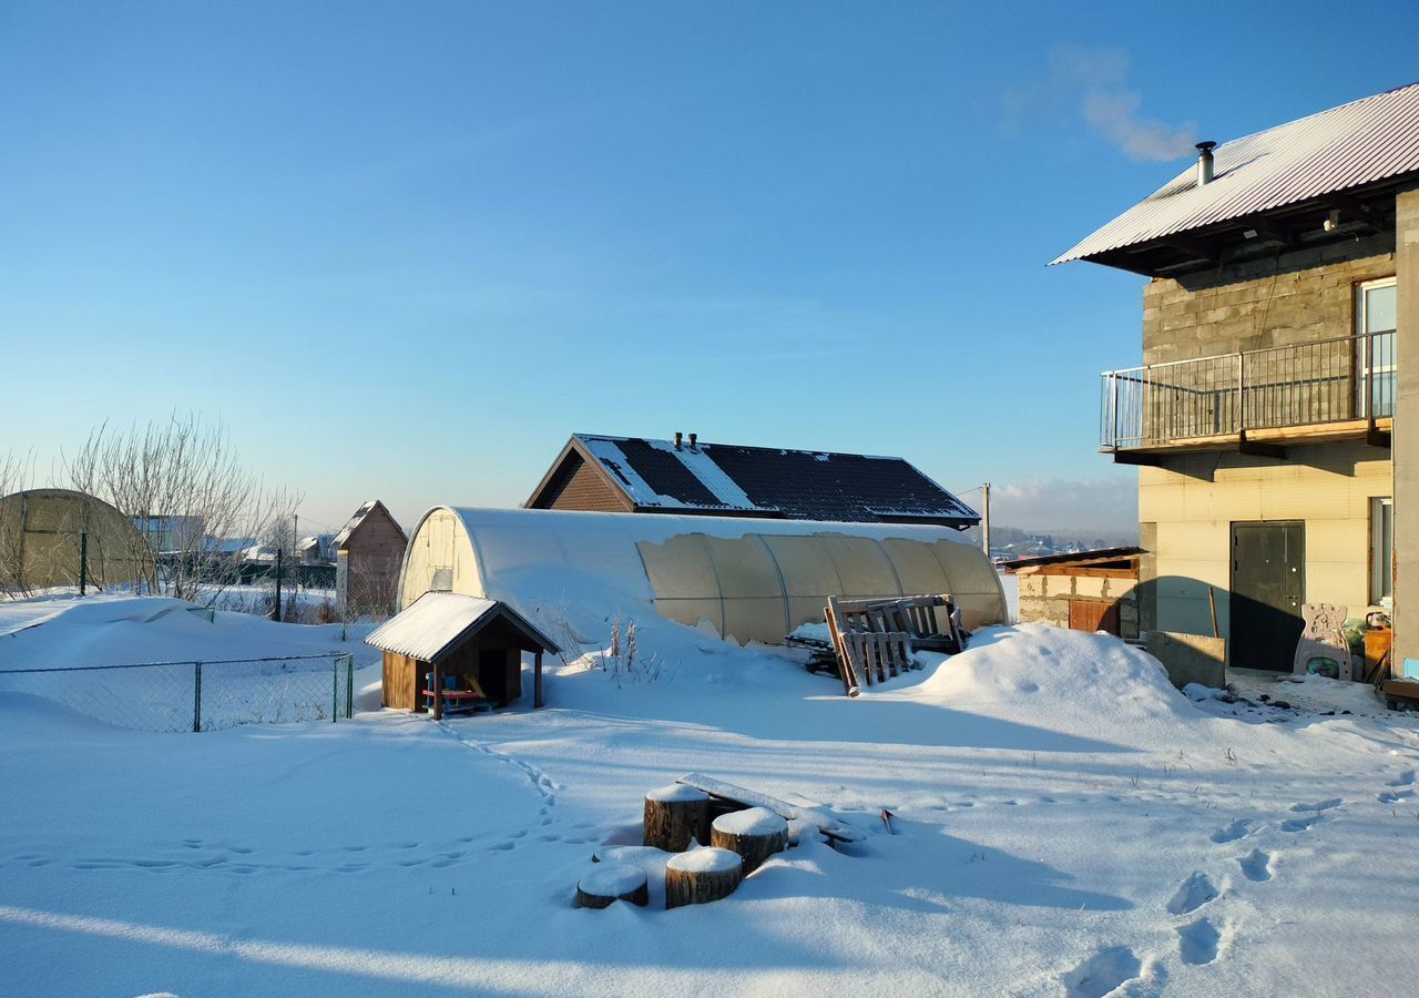
{"label": "bare concrete-block upper wall between the eaves and balcony railing", "polygon": [[1144,363],[1348,336],[1354,287],[1395,274],[1395,234],[1298,250],[1144,288]]}

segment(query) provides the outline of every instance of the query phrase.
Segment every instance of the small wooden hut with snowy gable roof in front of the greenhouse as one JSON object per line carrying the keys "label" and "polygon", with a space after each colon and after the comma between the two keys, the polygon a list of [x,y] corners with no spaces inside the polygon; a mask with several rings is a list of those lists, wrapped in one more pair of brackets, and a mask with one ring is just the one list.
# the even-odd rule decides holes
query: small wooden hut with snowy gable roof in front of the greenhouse
{"label": "small wooden hut with snowy gable roof in front of the greenhouse", "polygon": [[383,704],[441,718],[477,690],[490,706],[522,696],[522,653],[532,653],[532,706],[542,706],[542,653],[552,640],[497,599],[426,592],[365,639],[385,653]]}

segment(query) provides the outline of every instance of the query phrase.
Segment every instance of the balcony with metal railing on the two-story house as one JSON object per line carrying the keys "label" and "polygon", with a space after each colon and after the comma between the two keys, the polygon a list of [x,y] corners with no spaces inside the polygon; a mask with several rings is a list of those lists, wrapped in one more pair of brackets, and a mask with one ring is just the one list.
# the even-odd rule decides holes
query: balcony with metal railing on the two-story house
{"label": "balcony with metal railing on the two-story house", "polygon": [[1105,371],[1100,450],[1124,464],[1168,453],[1284,457],[1286,443],[1359,439],[1389,446],[1395,334],[1374,332]]}

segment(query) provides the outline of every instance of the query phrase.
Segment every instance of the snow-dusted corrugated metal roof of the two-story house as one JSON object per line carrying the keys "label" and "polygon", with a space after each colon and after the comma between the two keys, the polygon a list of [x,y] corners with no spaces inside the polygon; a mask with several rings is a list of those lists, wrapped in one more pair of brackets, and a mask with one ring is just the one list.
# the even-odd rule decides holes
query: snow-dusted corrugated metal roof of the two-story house
{"label": "snow-dusted corrugated metal roof of the two-story house", "polygon": [[1419,84],[1235,139],[1213,156],[1212,183],[1199,187],[1189,163],[1051,264],[1419,172]]}

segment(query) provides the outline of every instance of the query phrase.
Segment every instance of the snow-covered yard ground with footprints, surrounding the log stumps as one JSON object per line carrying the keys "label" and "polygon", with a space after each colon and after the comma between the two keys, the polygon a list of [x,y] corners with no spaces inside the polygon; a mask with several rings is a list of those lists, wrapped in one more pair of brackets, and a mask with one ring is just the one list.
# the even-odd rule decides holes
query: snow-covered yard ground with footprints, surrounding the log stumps
{"label": "snow-covered yard ground with footprints, surrounding the log stumps", "polygon": [[[197,656],[177,620],[105,650]],[[0,669],[92,623],[0,636]],[[0,694],[0,994],[1412,994],[1403,715],[1192,701],[1043,625],[853,701],[776,650],[639,642],[653,681],[555,669],[546,710],[444,724],[150,734]],[[803,842],[715,904],[573,909],[592,852],[690,771],[866,842]]]}

